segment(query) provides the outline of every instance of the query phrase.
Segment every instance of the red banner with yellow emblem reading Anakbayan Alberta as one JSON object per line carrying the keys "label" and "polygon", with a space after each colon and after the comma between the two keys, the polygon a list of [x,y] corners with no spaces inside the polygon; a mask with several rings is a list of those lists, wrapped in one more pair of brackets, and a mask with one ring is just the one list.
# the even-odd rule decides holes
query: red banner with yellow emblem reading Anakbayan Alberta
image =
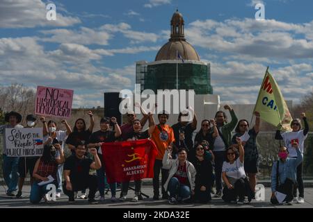
{"label": "red banner with yellow emblem reading Anakbayan Alberta", "polygon": [[150,139],[102,144],[109,183],[153,178],[157,147]]}

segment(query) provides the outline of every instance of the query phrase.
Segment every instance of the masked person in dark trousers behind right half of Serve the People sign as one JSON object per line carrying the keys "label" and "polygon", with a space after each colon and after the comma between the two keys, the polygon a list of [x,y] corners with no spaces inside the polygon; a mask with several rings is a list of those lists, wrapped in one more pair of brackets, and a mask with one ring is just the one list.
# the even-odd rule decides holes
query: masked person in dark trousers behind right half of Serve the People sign
{"label": "masked person in dark trousers behind right half of Serve the People sign", "polygon": [[[26,124],[25,128],[34,128],[36,125],[37,118],[33,114],[29,114],[26,116]],[[22,198],[22,189],[24,185],[24,180],[29,172],[29,176],[31,178],[31,185],[33,185],[33,169],[35,167],[35,163],[37,162],[39,157],[20,157],[19,158],[19,182],[18,182],[18,191],[16,194],[17,198]]]}

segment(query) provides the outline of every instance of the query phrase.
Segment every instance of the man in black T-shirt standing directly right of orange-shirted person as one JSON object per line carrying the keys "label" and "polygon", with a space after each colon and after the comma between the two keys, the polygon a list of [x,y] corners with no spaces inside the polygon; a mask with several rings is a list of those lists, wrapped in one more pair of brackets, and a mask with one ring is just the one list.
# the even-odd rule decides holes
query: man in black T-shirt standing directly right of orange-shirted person
{"label": "man in black T-shirt standing directly right of orange-shirted person", "polygon": [[[178,123],[172,126],[175,137],[175,149],[172,150],[173,158],[175,158],[179,148],[186,148],[188,153],[194,153],[193,151],[191,152],[191,150],[193,149],[193,131],[197,128],[198,123],[197,117],[194,113],[193,121],[191,123],[188,123],[188,121],[182,121],[182,117],[188,117],[188,112],[180,112],[178,116]],[[184,138],[183,141],[182,138]]]}

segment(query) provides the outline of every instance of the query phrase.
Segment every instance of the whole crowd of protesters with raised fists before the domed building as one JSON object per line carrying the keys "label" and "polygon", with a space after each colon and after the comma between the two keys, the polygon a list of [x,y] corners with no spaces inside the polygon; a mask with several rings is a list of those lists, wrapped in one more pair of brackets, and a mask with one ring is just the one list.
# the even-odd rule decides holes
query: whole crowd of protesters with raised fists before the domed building
{"label": "whole crowd of protesters with raised fists before the domed building", "polygon": [[[61,194],[68,196],[70,203],[75,198],[88,198],[91,204],[104,200],[106,187],[106,169],[102,158],[101,146],[107,142],[133,141],[151,139],[157,146],[157,157],[154,161],[153,200],[160,198],[176,203],[209,203],[215,184],[214,198],[222,198],[227,203],[244,204],[255,198],[255,186],[259,154],[257,135],[260,126],[260,114],[255,112],[255,123],[252,128],[246,119],[238,121],[230,105],[224,106],[230,112],[231,120],[223,111],[216,112],[214,119],[204,119],[197,132],[198,119],[193,115],[191,122],[182,117],[188,112],[181,112],[178,122],[173,126],[167,124],[169,114],[165,111],[158,114],[159,123],[154,122],[151,113],[143,113],[142,119],[136,119],[134,112],[127,112],[127,123],[119,126],[115,117],[103,117],[99,121],[97,132],[93,133],[95,121],[93,112],[90,126],[87,128],[84,119],[77,119],[73,129],[63,120],[66,130],[59,130],[56,122],[46,121],[40,117],[44,136],[44,151],[41,157],[10,157],[6,155],[6,128],[23,128],[19,123],[22,116],[17,112],[8,112],[6,125],[0,126],[3,134],[3,178],[8,187],[6,194],[22,198],[22,188],[26,173],[31,177],[31,203],[40,200],[56,201],[47,195],[47,186],[56,186],[56,198]],[[284,141],[278,150],[278,161],[273,163],[271,173],[271,203],[285,202],[304,203],[303,187],[303,143],[307,137],[309,126],[305,113],[301,120],[291,122],[290,132],[276,132],[275,139]],[[38,124],[38,117],[29,114],[26,117],[26,128]],[[149,123],[144,130],[145,123]],[[232,135],[232,131],[235,133]],[[248,135],[248,139],[243,139]],[[65,159],[65,144],[72,155]],[[161,173],[161,196],[159,176]],[[54,180],[49,182],[49,176]],[[44,183],[45,185],[40,185]],[[141,180],[135,180],[135,194],[131,201],[143,199]],[[109,184],[111,201],[126,201],[129,181],[120,184],[120,197],[116,198],[117,184]],[[89,189],[88,197],[86,189]],[[297,196],[297,189],[299,196]],[[17,191],[17,194],[15,194]],[[78,192],[81,191],[81,195]],[[100,198],[95,200],[99,191]],[[277,193],[286,197],[279,201]]]}

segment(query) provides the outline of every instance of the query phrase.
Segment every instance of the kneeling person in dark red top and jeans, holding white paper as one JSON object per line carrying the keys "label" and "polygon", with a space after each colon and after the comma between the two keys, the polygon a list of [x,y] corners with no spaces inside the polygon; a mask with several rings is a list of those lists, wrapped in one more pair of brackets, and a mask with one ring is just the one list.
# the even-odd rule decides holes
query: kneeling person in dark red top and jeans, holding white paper
{"label": "kneeling person in dark red top and jeans, holding white paper", "polygon": [[[56,151],[60,153],[58,157],[56,157]],[[44,153],[37,160],[33,169],[33,177],[36,181],[31,186],[31,203],[39,203],[42,196],[47,202],[53,200],[47,194],[49,191],[47,187],[51,184],[57,185],[56,172],[58,171],[58,164],[63,164],[64,161],[65,157],[60,144],[45,145]],[[49,178],[52,178],[52,181],[49,181]]]}

